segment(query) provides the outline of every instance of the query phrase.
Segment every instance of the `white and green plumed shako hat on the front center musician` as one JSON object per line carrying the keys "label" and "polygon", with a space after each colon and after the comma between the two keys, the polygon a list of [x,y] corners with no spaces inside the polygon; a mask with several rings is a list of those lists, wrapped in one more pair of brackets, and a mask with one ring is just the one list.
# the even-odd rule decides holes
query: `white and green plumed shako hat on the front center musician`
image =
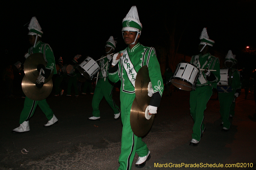
{"label": "white and green plumed shako hat on the front center musician", "polygon": [[[142,24],[140,23],[138,11],[136,6],[132,6],[126,17],[123,19],[122,23],[122,32],[123,31],[137,31],[137,36],[135,41],[137,40],[138,34],[141,34]],[[134,44],[135,41],[132,43]]]}

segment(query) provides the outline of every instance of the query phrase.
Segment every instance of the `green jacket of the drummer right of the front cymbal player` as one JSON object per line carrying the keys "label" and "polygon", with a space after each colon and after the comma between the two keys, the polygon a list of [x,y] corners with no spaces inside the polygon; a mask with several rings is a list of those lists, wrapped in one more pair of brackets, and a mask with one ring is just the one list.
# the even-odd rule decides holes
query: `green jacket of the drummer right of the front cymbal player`
{"label": "green jacket of the drummer right of the front cymbal player", "polygon": [[211,71],[210,76],[206,76],[204,71],[200,71],[197,79],[196,87],[213,85],[216,88],[217,83],[220,81],[220,61],[219,58],[212,56],[210,53],[205,55],[193,55],[190,63],[196,65],[199,69],[216,70]]}

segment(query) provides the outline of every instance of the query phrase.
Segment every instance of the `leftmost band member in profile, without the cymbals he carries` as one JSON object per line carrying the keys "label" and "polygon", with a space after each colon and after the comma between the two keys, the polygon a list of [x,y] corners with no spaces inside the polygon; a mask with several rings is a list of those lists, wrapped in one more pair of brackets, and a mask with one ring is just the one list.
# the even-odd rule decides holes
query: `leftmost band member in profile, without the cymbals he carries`
{"label": "leftmost band member in profile, without the cymbals he carries", "polygon": [[[55,68],[55,59],[52,48],[49,46],[49,44],[43,43],[40,40],[43,32],[41,31],[41,26],[39,25],[36,17],[32,17],[32,19],[30,20],[28,30],[29,43],[32,47],[29,48],[28,53],[25,55],[25,58],[34,53],[42,53],[44,55],[44,60],[47,63],[45,68],[41,68],[40,74],[36,80],[36,84],[41,84],[44,83],[45,78],[48,78],[50,76],[52,71],[53,74],[57,73]],[[30,130],[29,119],[31,116],[33,116],[37,105],[41,108],[41,110],[44,112],[47,119],[49,120],[47,124],[44,125],[44,127],[51,127],[54,123],[58,122],[58,119],[53,114],[52,109],[47,104],[46,99],[36,101],[26,97],[24,102],[24,108],[20,114],[20,126],[16,129],[13,129],[12,133],[23,133]]]}

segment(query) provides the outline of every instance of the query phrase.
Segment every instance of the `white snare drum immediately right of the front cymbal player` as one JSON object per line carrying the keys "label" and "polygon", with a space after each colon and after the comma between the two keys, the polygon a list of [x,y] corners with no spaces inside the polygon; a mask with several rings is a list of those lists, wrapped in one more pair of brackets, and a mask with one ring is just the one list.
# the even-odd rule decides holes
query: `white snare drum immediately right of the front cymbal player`
{"label": "white snare drum immediately right of the front cymbal player", "polygon": [[194,64],[179,63],[170,81],[181,90],[195,90],[199,72]]}

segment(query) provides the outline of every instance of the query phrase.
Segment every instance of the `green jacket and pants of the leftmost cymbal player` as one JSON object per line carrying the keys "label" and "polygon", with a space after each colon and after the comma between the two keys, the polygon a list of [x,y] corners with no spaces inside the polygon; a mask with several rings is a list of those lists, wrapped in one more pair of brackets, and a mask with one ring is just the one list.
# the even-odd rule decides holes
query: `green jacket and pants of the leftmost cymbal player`
{"label": "green jacket and pants of the leftmost cymbal player", "polygon": [[[34,54],[34,53],[42,53],[44,54],[44,60],[46,61],[46,67],[45,69],[51,69],[51,71],[54,71],[53,74],[56,74],[56,68],[55,68],[55,59],[53,55],[52,48],[49,46],[49,44],[43,43],[42,41],[38,41],[36,43],[36,47],[31,47],[28,50],[28,54]],[[44,112],[48,120],[51,120],[53,117],[52,109],[49,107],[49,105],[46,102],[46,99],[35,101],[31,100],[26,96],[24,108],[20,114],[20,124],[22,124],[24,121],[28,121],[31,116],[33,116],[36,106],[41,108],[41,110]]]}

